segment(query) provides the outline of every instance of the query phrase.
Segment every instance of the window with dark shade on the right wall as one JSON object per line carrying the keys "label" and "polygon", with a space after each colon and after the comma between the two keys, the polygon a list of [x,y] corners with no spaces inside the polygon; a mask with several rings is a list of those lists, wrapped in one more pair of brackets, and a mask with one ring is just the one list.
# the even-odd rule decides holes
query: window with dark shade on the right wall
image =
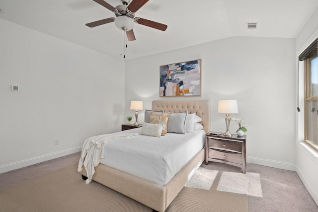
{"label": "window with dark shade on the right wall", "polygon": [[318,150],[317,39],[300,56],[305,64],[305,142]]}

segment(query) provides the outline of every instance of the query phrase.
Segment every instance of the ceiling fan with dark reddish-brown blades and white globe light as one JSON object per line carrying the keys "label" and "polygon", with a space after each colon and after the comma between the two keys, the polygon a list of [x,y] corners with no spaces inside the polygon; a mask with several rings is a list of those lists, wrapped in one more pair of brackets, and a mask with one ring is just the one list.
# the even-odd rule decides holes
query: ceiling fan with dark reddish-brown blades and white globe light
{"label": "ceiling fan with dark reddish-brown blades and white globe light", "polygon": [[[140,9],[145,3],[149,0],[132,0],[132,2],[128,5],[130,0],[121,0],[123,4],[120,4],[116,7],[113,7],[109,3],[104,0],[94,0],[100,5],[106,7],[110,11],[114,12],[116,17],[106,18],[102,20],[97,20],[91,23],[86,23],[86,26],[95,27],[105,23],[115,22],[117,28],[124,30],[127,34],[127,38],[129,41],[136,40],[133,26],[134,23],[139,23],[145,26],[149,26],[155,29],[159,29],[161,31],[165,31],[167,25],[158,23],[155,21],[147,20],[140,17],[135,17],[135,12]],[[127,6],[128,5],[128,6]]]}

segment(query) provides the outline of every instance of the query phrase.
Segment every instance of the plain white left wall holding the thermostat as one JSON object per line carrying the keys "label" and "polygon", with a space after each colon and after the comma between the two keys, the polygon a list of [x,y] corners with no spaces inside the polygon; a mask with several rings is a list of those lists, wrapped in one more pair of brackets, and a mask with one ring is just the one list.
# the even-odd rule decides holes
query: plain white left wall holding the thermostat
{"label": "plain white left wall holding the thermostat", "polygon": [[120,130],[123,61],[2,19],[0,28],[0,173]]}

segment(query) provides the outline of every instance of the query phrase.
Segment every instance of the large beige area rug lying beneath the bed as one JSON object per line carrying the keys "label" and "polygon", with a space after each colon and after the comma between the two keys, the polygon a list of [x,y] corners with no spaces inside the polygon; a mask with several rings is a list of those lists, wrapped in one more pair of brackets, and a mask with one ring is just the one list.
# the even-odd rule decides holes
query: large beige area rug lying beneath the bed
{"label": "large beige area rug lying beneath the bed", "polygon": [[[193,179],[166,212],[247,212],[247,195],[193,188],[204,184]],[[152,212],[152,209],[96,182],[86,185],[77,166],[41,176],[11,189],[0,191],[4,212]]]}

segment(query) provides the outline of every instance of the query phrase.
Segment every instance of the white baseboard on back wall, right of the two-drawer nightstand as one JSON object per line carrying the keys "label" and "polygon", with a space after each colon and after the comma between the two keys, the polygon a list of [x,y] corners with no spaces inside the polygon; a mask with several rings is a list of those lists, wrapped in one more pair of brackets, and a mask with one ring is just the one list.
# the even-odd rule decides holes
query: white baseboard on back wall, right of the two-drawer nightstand
{"label": "white baseboard on back wall, right of the two-drawer nightstand", "polygon": [[258,165],[262,165],[262,166],[274,167],[274,168],[278,168],[278,169],[296,171],[295,164],[282,162],[282,161],[246,156],[246,162],[247,163],[254,163],[254,164],[258,164]]}

